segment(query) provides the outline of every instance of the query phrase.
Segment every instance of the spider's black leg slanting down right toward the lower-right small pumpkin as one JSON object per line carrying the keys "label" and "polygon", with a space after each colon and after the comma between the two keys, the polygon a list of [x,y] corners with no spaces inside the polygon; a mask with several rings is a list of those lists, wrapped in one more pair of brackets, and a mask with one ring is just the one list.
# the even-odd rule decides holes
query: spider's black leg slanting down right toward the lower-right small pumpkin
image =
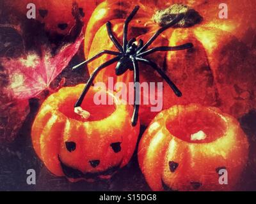
{"label": "spider's black leg slanting down right toward the lower-right small pumpkin", "polygon": [[175,95],[178,96],[178,97],[182,96],[182,92],[180,92],[178,87],[172,82],[172,80],[170,80],[170,78],[162,71],[162,69],[160,69],[157,66],[157,64],[155,62],[152,62],[150,60],[143,59],[143,58],[138,58],[138,57],[136,57],[136,59],[138,61],[144,62],[145,64],[148,64],[149,66],[154,68],[157,71],[157,73],[159,73],[159,75],[161,75],[161,77],[164,78],[164,80],[167,82],[167,84],[170,85],[170,87],[172,88],[172,90],[175,93]]}

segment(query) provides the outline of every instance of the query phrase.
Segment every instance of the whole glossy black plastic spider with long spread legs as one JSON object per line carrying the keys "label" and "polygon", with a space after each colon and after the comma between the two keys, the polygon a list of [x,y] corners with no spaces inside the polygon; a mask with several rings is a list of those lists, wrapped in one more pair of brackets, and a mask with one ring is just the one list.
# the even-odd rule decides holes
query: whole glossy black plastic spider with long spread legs
{"label": "whole glossy black plastic spider with long spread legs", "polygon": [[[132,18],[134,17],[134,15],[136,15],[136,13],[139,9],[140,9],[140,6],[135,6],[134,10],[131,12],[129,17],[127,17],[125,20],[124,33],[123,33],[123,46],[121,46],[120,43],[118,43],[118,40],[116,40],[116,38],[113,34],[113,31],[111,29],[111,22],[106,23],[106,26],[108,29],[108,36],[111,39],[111,41],[113,41],[115,47],[119,50],[119,52],[115,52],[115,51],[111,51],[111,50],[102,50],[98,54],[94,55],[92,58],[90,58],[84,62],[81,62],[80,64],[77,64],[77,66],[73,67],[73,69],[76,69],[78,66],[81,66],[82,64],[85,64],[88,62],[91,62],[103,54],[116,55],[116,57],[114,57],[113,59],[110,59],[109,61],[104,62],[103,64],[101,64],[98,68],[96,68],[93,71],[91,77],[89,78],[88,82],[86,83],[86,85],[84,87],[84,90],[83,90],[81,96],[79,97],[79,99],[77,100],[77,102],[75,104],[75,108],[81,106],[84,96],[86,95],[86,92],[88,92],[90,86],[93,83],[93,79],[97,76],[99,71],[106,68],[110,64],[113,64],[114,62],[117,62],[116,68],[115,68],[116,75],[117,76],[122,75],[128,69],[133,70],[134,71],[134,82],[140,82],[138,61],[148,64],[153,69],[155,69],[157,71],[157,73],[159,73],[159,75],[161,75],[161,77],[164,78],[164,80],[168,83],[168,85],[170,85],[170,87],[172,88],[172,90],[176,94],[176,96],[178,96],[178,97],[182,96],[182,93],[179,91],[179,89],[176,87],[176,85],[173,84],[172,80],[170,80],[170,78],[167,77],[167,75],[162,71],[162,69],[159,68],[155,62],[152,62],[148,59],[144,59],[143,57],[145,57],[149,54],[152,54],[154,52],[157,52],[157,51],[175,51],[175,50],[184,50],[184,49],[193,47],[192,43],[186,43],[184,45],[179,45],[179,46],[175,46],[175,47],[154,47],[154,48],[150,48],[149,50],[147,50],[147,48],[153,43],[154,40],[156,40],[156,38],[157,38],[157,36],[159,36],[159,34],[163,33],[163,31],[165,31],[169,27],[172,27],[173,25],[177,24],[180,20],[182,20],[182,18],[184,18],[184,14],[180,13],[172,20],[172,22],[170,22],[170,24],[165,25],[164,27],[159,29],[150,38],[150,40],[148,40],[148,42],[145,43],[145,45],[143,44],[142,40],[139,40],[138,45],[136,45],[134,43],[136,41],[135,38],[132,38],[131,40],[127,41],[127,29],[128,29],[129,22],[131,22]],[[134,91],[134,110],[133,110],[132,120],[131,120],[132,126],[136,126],[137,121],[138,121],[139,104],[136,104],[136,101],[139,101],[138,100],[139,97],[140,97],[140,92],[136,93],[136,91]]]}

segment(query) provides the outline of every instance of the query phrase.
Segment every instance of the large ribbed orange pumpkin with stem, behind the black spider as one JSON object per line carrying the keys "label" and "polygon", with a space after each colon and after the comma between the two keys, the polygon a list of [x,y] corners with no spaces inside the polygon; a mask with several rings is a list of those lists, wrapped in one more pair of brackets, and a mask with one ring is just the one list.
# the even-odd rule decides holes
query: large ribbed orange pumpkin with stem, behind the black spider
{"label": "large ribbed orange pumpkin with stem, behind the black spider", "polygon": [[[200,103],[219,106],[221,110],[240,117],[255,107],[255,53],[251,50],[255,34],[253,1],[228,0],[228,18],[219,18],[219,5],[223,1],[104,1],[99,4],[86,28],[84,52],[86,59],[100,50],[116,50],[108,38],[106,22],[113,25],[116,38],[122,42],[124,19],[135,5],[140,6],[129,25],[128,38],[147,41],[161,26],[168,24],[178,12],[186,13],[185,20],[164,31],[150,47],[175,46],[193,43],[189,50],[158,52],[148,55],[182,91],[177,98],[164,82],[163,106]],[[90,73],[111,55],[102,55],[88,64]],[[159,75],[144,64],[140,65],[141,82],[163,82]],[[115,76],[115,66],[102,70],[95,79],[107,82],[132,82],[132,71]],[[148,106],[141,106],[143,124],[154,117]]]}

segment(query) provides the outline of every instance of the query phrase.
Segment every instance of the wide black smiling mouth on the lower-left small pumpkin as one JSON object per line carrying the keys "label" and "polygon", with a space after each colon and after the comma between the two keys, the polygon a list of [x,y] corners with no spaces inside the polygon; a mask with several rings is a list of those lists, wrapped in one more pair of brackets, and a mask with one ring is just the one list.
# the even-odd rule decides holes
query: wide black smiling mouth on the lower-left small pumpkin
{"label": "wide black smiling mouth on the lower-left small pumpkin", "polygon": [[120,164],[118,164],[117,166],[113,166],[111,168],[108,168],[105,171],[99,171],[99,172],[96,172],[96,173],[90,173],[90,172],[83,173],[80,170],[77,170],[75,168],[72,168],[72,167],[67,166],[66,164],[64,164],[61,161],[60,156],[58,156],[58,159],[60,161],[60,165],[61,165],[63,173],[69,179],[99,179],[99,176],[113,175],[113,173],[115,173],[120,168]]}

